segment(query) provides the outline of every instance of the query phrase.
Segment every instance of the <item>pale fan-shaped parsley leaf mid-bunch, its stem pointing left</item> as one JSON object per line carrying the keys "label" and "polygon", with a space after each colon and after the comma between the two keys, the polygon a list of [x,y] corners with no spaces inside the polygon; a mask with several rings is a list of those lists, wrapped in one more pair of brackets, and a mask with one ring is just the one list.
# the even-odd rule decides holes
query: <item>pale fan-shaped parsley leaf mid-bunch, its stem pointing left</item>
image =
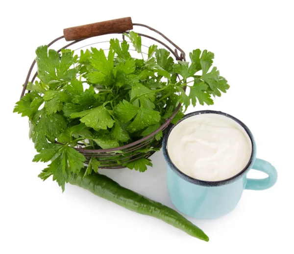
{"label": "pale fan-shaped parsley leaf mid-bunch, its stem pointing left", "polygon": [[111,128],[115,122],[109,111],[103,105],[91,110],[71,114],[71,118],[76,117],[82,117],[80,121],[88,127],[92,127],[94,130],[106,130],[107,127]]}

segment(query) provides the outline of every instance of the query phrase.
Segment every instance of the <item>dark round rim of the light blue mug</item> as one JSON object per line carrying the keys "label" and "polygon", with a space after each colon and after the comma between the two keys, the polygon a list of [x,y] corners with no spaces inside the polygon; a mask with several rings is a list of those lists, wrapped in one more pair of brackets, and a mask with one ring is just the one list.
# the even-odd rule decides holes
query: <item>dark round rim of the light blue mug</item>
{"label": "dark round rim of the light blue mug", "polygon": [[[234,176],[230,177],[230,178],[227,178],[227,179],[224,179],[224,180],[219,180],[219,181],[205,181],[205,180],[199,180],[199,179],[196,179],[196,178],[193,178],[185,173],[183,173],[180,169],[178,169],[172,162],[172,159],[170,158],[170,155],[169,155],[169,152],[168,152],[168,139],[169,139],[169,136],[173,130],[173,128],[175,126],[177,126],[180,122],[182,122],[183,120],[185,120],[186,118],[189,118],[191,116],[194,116],[194,115],[197,115],[197,114],[206,114],[206,113],[212,113],[212,114],[221,114],[223,116],[226,116],[226,117],[229,117],[231,118],[232,120],[234,120],[235,122],[237,122],[239,125],[241,125],[244,129],[245,129],[245,132],[247,133],[250,141],[251,141],[251,154],[250,154],[250,158],[249,158],[249,161],[248,163],[246,164],[245,168],[242,169],[240,172],[238,172],[237,174],[235,174]],[[195,111],[195,112],[192,112],[192,113],[188,113],[186,114],[181,120],[179,120],[176,124],[173,124],[167,131],[167,133],[164,135],[164,138],[163,138],[163,154],[164,154],[164,157],[165,157],[165,160],[166,162],[168,163],[168,165],[170,166],[170,168],[178,175],[180,176],[182,179],[190,182],[190,183],[193,183],[193,184],[196,184],[196,185],[201,185],[201,186],[221,186],[221,185],[225,185],[225,184],[229,184],[231,182],[234,182],[238,179],[240,179],[241,177],[244,176],[244,174],[246,173],[247,170],[249,170],[254,161],[255,161],[255,157],[256,157],[256,144],[255,144],[255,141],[254,141],[254,137],[251,133],[251,131],[249,130],[249,128],[242,122],[240,121],[238,118],[228,114],[228,113],[223,113],[221,111],[213,111],[213,110],[201,110],[201,111]]]}

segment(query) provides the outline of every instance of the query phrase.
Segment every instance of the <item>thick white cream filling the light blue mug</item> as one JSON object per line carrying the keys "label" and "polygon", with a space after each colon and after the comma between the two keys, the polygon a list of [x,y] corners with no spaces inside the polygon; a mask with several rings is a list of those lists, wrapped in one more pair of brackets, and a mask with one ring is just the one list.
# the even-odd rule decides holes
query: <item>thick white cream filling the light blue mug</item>
{"label": "thick white cream filling the light blue mug", "polygon": [[252,150],[245,129],[233,119],[215,113],[181,121],[172,129],[167,148],[179,170],[205,181],[238,174],[247,165]]}

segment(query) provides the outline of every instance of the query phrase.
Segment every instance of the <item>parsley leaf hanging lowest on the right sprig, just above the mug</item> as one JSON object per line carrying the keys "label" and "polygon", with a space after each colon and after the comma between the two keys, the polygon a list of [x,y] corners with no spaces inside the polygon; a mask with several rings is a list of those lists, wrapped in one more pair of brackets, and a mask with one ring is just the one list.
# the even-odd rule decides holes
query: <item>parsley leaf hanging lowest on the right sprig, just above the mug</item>
{"label": "parsley leaf hanging lowest on the right sprig, just above the mug", "polygon": [[194,85],[190,87],[189,98],[194,107],[196,106],[196,98],[200,105],[204,105],[204,103],[207,105],[213,105],[213,100],[210,98],[210,94],[206,92],[207,88],[208,85],[203,81],[197,82],[197,80],[194,82]]}

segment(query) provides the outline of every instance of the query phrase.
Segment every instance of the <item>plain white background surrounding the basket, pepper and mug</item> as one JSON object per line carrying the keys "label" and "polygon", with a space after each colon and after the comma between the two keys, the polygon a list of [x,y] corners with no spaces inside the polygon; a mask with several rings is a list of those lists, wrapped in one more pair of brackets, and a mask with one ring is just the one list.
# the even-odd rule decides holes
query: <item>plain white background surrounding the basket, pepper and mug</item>
{"label": "plain white background surrounding the basket, pepper and mug", "polygon": [[[0,253],[267,253],[293,250],[293,1],[11,1],[1,3]],[[32,163],[26,118],[13,114],[37,46],[62,29],[131,16],[182,47],[208,49],[231,88],[212,109],[252,131],[257,157],[278,170],[276,185],[245,191],[238,207],[216,220],[189,218],[206,243],[160,220],[130,212],[75,186],[62,194]],[[145,173],[105,172],[123,186],[172,206],[161,152]],[[249,176],[263,177],[257,172]],[[173,207],[173,206],[172,206]]]}

